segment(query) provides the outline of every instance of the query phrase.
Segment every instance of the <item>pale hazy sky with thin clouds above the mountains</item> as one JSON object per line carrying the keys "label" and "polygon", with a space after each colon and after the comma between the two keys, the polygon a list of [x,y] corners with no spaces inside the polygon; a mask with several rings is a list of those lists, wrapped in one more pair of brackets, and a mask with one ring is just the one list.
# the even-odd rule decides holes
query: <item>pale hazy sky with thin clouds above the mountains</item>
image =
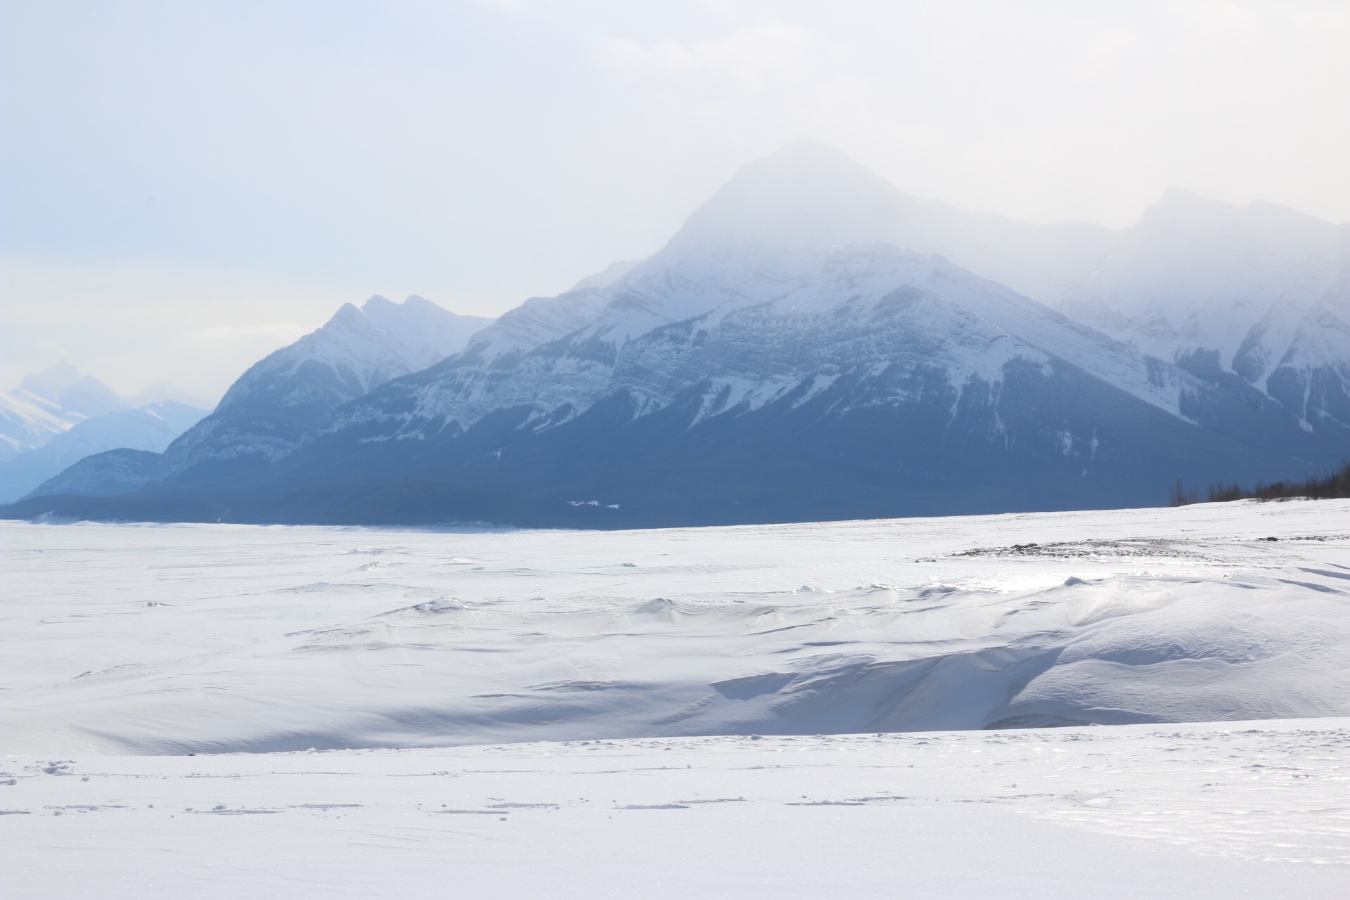
{"label": "pale hazy sky with thin clouds above the mountains", "polygon": [[1350,220],[1350,0],[0,0],[0,389],[212,399],[343,302],[498,314],[801,136],[913,194]]}

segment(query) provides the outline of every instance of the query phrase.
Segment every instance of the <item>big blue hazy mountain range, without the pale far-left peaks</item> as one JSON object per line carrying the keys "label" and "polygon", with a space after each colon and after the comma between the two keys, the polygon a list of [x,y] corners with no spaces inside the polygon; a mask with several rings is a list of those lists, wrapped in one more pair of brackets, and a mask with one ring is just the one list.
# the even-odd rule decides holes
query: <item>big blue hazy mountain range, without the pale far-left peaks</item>
{"label": "big blue hazy mountain range, without the pale far-left peaks", "polygon": [[159,460],[8,514],[620,528],[1304,476],[1350,452],[1347,233],[1180,192],[1123,232],[1029,225],[802,142],[493,324],[346,306]]}

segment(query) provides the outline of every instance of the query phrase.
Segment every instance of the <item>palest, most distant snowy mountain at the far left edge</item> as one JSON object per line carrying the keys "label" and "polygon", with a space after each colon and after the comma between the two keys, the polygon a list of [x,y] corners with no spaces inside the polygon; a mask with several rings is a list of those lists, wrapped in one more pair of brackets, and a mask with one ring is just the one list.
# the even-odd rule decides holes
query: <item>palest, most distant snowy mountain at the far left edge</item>
{"label": "palest, most distant snowy mountain at the far left edge", "polygon": [[24,375],[16,390],[0,394],[0,463],[42,447],[86,418],[131,406],[69,363]]}

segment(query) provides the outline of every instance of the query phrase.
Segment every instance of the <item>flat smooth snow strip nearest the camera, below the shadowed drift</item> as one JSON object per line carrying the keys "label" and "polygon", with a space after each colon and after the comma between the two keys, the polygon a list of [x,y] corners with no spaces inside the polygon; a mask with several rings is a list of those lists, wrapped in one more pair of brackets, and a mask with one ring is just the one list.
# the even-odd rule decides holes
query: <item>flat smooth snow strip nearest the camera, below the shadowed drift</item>
{"label": "flat smooth snow strip nearest the camera, below the shadowed drift", "polygon": [[9,897],[1331,900],[1350,878],[1350,719],[0,775]]}

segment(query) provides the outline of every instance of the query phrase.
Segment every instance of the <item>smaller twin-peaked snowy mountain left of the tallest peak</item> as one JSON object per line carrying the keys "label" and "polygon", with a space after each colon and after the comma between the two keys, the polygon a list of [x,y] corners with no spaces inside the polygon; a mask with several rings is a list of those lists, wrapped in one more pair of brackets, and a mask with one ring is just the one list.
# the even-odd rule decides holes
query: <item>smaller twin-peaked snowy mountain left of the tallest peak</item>
{"label": "smaller twin-peaked snowy mountain left of the tallest peak", "polygon": [[421,297],[344,304],[328,322],[254,364],[216,410],[165,451],[165,475],[265,464],[312,437],[340,403],[458,352],[493,320]]}

